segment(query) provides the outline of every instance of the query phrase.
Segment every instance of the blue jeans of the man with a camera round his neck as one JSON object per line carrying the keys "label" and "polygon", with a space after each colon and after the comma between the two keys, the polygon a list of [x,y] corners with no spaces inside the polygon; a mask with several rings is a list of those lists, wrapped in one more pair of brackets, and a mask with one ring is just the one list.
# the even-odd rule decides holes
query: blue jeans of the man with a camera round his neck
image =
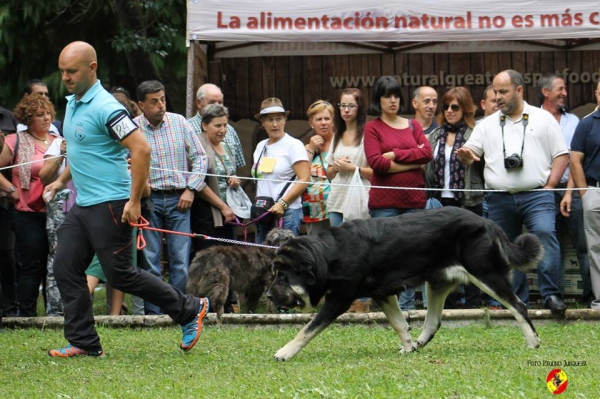
{"label": "blue jeans of the man with a camera round his neck", "polygon": [[[560,289],[560,247],[556,238],[556,207],[552,191],[522,193],[490,193],[489,217],[514,241],[522,233],[523,224],[535,234],[544,247],[544,257],[537,267],[540,295],[562,298]],[[527,275],[513,270],[513,290],[526,305],[529,303]]]}

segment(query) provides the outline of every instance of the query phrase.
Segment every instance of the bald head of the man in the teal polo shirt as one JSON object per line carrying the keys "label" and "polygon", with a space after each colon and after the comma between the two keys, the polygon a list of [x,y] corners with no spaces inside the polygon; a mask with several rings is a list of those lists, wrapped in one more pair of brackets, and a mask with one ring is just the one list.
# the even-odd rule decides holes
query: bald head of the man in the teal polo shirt
{"label": "bald head of the man in the teal polo shirt", "polygon": [[58,57],[58,68],[67,91],[80,100],[98,80],[96,50],[86,42],[70,43]]}

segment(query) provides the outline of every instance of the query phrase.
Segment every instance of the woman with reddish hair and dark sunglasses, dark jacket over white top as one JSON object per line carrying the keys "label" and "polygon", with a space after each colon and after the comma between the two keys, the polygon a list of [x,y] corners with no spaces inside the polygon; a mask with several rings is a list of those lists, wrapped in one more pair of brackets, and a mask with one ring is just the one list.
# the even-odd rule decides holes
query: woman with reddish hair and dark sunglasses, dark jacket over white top
{"label": "woman with reddish hair and dark sunglasses, dark jacket over white top", "polygon": [[[433,160],[425,167],[427,186],[439,190],[429,191],[443,206],[465,208],[479,216],[483,215],[483,171],[481,162],[464,166],[456,155],[475,127],[475,104],[471,93],[464,87],[454,87],[442,97],[442,112],[438,116],[439,127],[429,135],[433,148]],[[465,189],[469,191],[453,191]],[[461,293],[451,293],[446,308],[479,308],[481,292],[474,285],[464,286],[464,305]]]}

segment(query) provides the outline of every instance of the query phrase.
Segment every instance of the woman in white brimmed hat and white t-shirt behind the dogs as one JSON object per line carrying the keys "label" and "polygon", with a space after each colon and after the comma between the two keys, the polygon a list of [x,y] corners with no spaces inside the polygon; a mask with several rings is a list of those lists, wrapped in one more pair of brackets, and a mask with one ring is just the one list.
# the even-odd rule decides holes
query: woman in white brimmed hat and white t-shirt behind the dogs
{"label": "woman in white brimmed hat and white t-shirt behind the dogs", "polygon": [[258,143],[254,150],[252,177],[257,183],[253,208],[273,216],[271,220],[262,218],[257,222],[257,243],[265,240],[279,218],[284,229],[300,234],[300,195],[306,190],[306,184],[299,183],[310,181],[310,170],[302,142],[284,130],[289,113],[281,100],[271,97],[261,103],[260,112],[254,115],[269,138]]}

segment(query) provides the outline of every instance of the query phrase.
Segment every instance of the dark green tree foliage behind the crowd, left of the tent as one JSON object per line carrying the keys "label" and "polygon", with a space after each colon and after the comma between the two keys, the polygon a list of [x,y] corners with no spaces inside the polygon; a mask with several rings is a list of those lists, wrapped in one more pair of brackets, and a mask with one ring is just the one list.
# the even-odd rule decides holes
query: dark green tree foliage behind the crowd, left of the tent
{"label": "dark green tree foliage behind the crowd, left of the tent", "polygon": [[[139,24],[132,27],[130,14],[115,12],[123,5],[139,11]],[[158,76],[167,86],[185,84],[185,23],[184,0],[0,2],[0,105],[14,108],[25,82],[38,78],[48,83],[60,115],[68,93],[60,81],[58,56],[74,40],[95,47],[99,77],[107,87],[120,85],[135,93],[141,80]],[[131,51],[137,51],[135,57],[128,57]],[[132,59],[146,62],[156,76],[131,67]]]}

